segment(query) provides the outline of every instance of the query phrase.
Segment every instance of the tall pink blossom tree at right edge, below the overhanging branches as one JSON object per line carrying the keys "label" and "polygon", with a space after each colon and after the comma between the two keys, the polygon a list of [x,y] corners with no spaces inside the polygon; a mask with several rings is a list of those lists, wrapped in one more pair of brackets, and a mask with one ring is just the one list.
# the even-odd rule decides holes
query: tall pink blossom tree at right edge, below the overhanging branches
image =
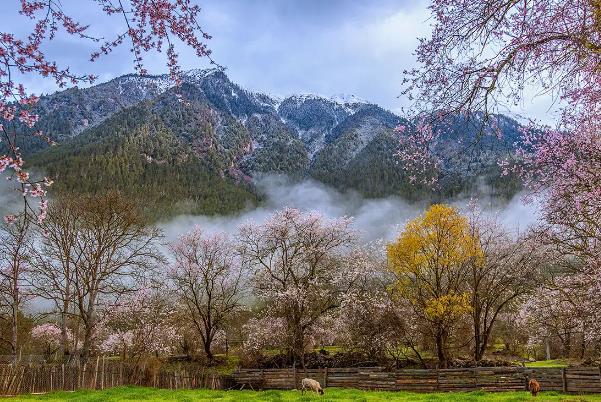
{"label": "tall pink blossom tree at right edge, below the overhanging branches", "polygon": [[559,339],[569,355],[579,337],[582,356],[599,342],[601,309],[593,296],[601,289],[601,136],[599,121],[586,119],[572,130],[526,129],[516,159],[505,163],[539,198],[542,220],[532,237],[562,273],[537,296],[536,307],[553,319],[533,319],[542,334],[533,339],[547,349]]}

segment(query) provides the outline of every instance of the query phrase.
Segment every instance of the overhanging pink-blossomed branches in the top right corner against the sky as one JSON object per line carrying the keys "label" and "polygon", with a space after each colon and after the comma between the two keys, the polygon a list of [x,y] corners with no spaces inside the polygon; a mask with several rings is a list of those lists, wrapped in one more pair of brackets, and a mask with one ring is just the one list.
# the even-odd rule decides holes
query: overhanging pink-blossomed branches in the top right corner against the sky
{"label": "overhanging pink-blossomed branches in the top right corner against the sky", "polygon": [[[429,132],[432,120],[461,113],[468,118],[479,116],[484,127],[486,122],[494,123],[495,113],[519,104],[525,91],[534,88],[551,94],[564,106],[558,130],[574,134],[575,141],[586,145],[583,152],[564,148],[558,142],[565,141],[559,139],[564,134],[559,133],[551,134],[555,139],[543,136],[540,147],[526,144],[534,171],[573,170],[575,166],[593,170],[587,169],[587,164],[598,160],[598,1],[433,0],[430,10],[432,34],[420,39],[416,51],[419,66],[405,72],[405,94],[422,116],[421,129],[402,130],[403,143],[410,146],[402,146],[399,152],[403,160],[411,162],[409,168],[439,160],[428,146],[440,134]],[[479,138],[473,138],[466,150],[478,142]],[[548,164],[548,151],[560,156],[555,167]],[[598,175],[598,169],[593,173]],[[565,177],[548,175],[546,179],[562,187]],[[565,184],[571,186],[577,177],[569,175],[568,180]]]}

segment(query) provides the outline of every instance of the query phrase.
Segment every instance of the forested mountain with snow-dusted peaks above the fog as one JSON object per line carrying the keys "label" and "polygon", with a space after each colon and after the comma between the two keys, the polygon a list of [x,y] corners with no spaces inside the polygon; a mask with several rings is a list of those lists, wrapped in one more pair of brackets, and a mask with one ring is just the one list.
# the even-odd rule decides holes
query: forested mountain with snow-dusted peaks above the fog
{"label": "forested mountain with snow-dusted peaks above the fog", "polygon": [[[177,88],[164,75],[125,75],[43,96],[34,109],[40,115],[34,129],[59,145],[48,148],[28,136],[22,150],[57,179],[54,191],[119,189],[144,201],[156,218],[260,202],[252,177],[261,173],[311,177],[367,197],[436,199],[472,191],[481,177],[500,195],[516,190],[496,167],[519,132],[506,116],[493,121],[503,136],[482,137],[476,158],[462,157],[458,146],[477,129],[474,119],[437,123],[445,174],[433,192],[409,184],[394,156],[394,128],[415,122],[352,96],[279,99],[247,91],[212,69],[185,73]],[[31,131],[4,124],[21,136]]]}

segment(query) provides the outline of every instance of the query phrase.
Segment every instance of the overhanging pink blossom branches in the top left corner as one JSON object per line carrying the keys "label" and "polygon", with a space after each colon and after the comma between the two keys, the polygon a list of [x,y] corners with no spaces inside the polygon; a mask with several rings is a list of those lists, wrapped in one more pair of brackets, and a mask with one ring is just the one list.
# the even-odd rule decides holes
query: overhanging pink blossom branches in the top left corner
{"label": "overhanging pink blossom branches in the top left corner", "polygon": [[[38,97],[19,84],[23,76],[33,75],[52,79],[59,88],[68,85],[91,83],[95,77],[78,74],[60,64],[60,55],[44,52],[44,47],[59,34],[74,36],[96,44],[97,49],[90,55],[90,61],[96,61],[102,55],[111,53],[121,45],[127,44],[132,55],[136,72],[146,74],[144,55],[148,52],[165,52],[170,75],[176,84],[180,81],[180,68],[175,42],[181,42],[194,50],[198,57],[208,57],[210,50],[206,41],[210,36],[205,33],[199,22],[200,8],[191,0],[88,0],[85,5],[96,8],[99,15],[112,17],[114,36],[96,37],[93,25],[77,21],[57,0],[21,0],[15,1],[15,17],[33,22],[33,31],[24,37],[10,32],[0,32],[0,137],[3,147],[0,151],[0,173],[10,172],[16,177],[17,189],[24,195],[23,214],[37,213],[43,220],[47,201],[46,189],[52,182],[49,179],[34,180],[24,170],[24,161],[20,152],[19,138],[12,122],[33,129],[33,136],[53,143],[52,133],[35,131],[38,115],[33,111]],[[39,209],[34,208],[29,198],[40,200]],[[6,218],[15,219],[14,215]]]}

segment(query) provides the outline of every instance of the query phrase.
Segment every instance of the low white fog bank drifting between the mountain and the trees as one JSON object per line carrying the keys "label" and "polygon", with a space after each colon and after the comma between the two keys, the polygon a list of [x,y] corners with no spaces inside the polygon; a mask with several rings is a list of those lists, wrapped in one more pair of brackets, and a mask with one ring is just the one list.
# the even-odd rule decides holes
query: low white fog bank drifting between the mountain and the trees
{"label": "low white fog bank drifting between the mountain and the trees", "polygon": [[[355,229],[365,241],[390,241],[409,219],[427,207],[425,203],[409,203],[399,197],[366,199],[356,192],[343,193],[314,180],[292,182],[285,176],[264,176],[256,180],[256,185],[265,194],[261,206],[227,216],[183,215],[161,222],[159,226],[164,230],[166,240],[173,240],[196,225],[209,232],[234,233],[242,223],[261,223],[274,211],[292,207],[316,211],[330,218],[352,217]],[[465,208],[468,202],[469,199],[449,201],[460,209]],[[521,194],[508,203],[486,197],[475,202],[484,212],[496,214],[513,231],[523,231],[538,217],[536,204],[524,203]]]}

